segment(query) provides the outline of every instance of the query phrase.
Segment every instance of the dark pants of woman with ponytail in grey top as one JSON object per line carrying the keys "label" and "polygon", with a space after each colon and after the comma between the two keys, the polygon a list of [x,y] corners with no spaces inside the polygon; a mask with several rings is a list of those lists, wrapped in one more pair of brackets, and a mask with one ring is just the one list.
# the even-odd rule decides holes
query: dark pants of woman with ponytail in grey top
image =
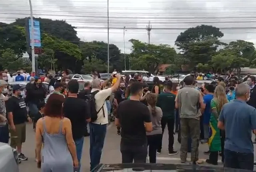
{"label": "dark pants of woman with ponytail in grey top", "polygon": [[147,136],[148,138],[148,156],[150,163],[156,163],[156,150],[160,141],[162,140],[162,134],[155,134]]}

